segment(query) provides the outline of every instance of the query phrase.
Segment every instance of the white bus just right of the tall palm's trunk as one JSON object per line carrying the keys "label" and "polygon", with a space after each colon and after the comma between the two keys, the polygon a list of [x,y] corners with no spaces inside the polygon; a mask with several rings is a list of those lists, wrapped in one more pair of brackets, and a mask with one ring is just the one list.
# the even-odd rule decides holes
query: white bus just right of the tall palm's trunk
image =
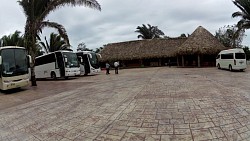
{"label": "white bus just right of the tall palm's trunk", "polygon": [[75,53],[66,50],[36,57],[36,78],[65,78],[80,75],[80,64]]}

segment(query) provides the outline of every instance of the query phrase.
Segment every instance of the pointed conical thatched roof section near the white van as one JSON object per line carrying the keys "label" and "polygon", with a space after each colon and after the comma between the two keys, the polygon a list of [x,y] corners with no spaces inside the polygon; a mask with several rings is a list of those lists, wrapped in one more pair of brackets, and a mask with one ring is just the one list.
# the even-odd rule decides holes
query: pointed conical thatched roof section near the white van
{"label": "pointed conical thatched roof section near the white van", "polygon": [[178,48],[178,54],[217,54],[226,49],[209,31],[199,26]]}

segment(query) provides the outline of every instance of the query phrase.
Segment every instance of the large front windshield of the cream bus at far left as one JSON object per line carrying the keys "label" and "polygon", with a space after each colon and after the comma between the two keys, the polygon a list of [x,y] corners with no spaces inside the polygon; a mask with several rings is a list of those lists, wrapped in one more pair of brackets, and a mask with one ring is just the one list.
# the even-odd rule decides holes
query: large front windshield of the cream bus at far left
{"label": "large front windshield of the cream bus at far left", "polygon": [[24,49],[4,49],[2,56],[2,76],[17,76],[28,73],[27,53]]}

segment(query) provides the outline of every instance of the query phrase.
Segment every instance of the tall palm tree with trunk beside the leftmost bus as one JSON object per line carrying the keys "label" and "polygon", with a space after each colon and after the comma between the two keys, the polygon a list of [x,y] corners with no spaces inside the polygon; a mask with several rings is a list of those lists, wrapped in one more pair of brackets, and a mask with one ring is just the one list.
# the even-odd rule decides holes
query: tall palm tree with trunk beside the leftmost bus
{"label": "tall palm tree with trunk beside the leftmost bus", "polygon": [[[65,28],[55,22],[45,20],[48,15],[63,6],[86,6],[101,10],[101,6],[96,0],[19,0],[26,16],[25,39],[29,54],[35,60],[36,38],[45,27],[52,27],[58,30],[65,42],[69,45],[69,39]],[[31,65],[32,86],[36,86],[34,64]]]}

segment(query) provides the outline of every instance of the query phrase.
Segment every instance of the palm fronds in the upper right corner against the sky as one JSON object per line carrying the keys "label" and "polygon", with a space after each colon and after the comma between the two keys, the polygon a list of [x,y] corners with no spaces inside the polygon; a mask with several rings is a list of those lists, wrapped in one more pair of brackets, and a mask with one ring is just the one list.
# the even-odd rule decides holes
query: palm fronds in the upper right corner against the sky
{"label": "palm fronds in the upper right corner against the sky", "polygon": [[238,22],[237,26],[240,29],[249,29],[250,28],[250,2],[249,0],[235,0],[233,3],[241,10],[234,12],[232,17],[241,17],[241,20]]}

